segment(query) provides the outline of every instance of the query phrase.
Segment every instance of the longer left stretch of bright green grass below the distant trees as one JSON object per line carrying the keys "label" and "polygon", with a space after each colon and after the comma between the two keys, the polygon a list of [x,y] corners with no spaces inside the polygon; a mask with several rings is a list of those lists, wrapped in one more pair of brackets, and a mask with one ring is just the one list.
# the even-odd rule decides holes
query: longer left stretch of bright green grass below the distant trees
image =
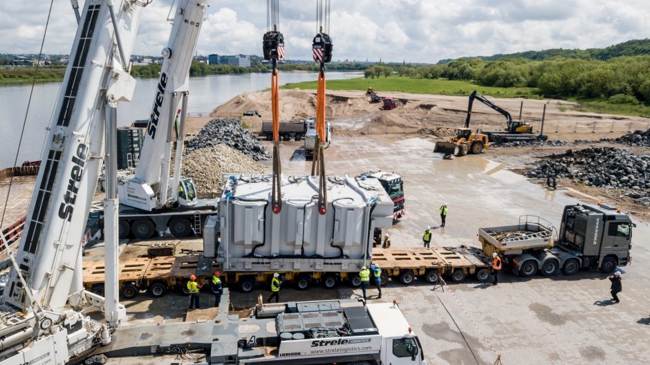
{"label": "longer left stretch of bright green grass below the distant trees", "polygon": [[[478,90],[479,93],[494,97],[541,98],[537,88],[499,88],[447,79],[413,79],[411,77],[391,76],[380,77],[378,79],[358,77],[355,79],[340,79],[327,82],[328,90],[366,91],[370,86],[378,93],[399,91],[413,94],[470,95],[472,91]],[[297,82],[294,84],[286,84],[282,88],[315,89],[316,82]]]}

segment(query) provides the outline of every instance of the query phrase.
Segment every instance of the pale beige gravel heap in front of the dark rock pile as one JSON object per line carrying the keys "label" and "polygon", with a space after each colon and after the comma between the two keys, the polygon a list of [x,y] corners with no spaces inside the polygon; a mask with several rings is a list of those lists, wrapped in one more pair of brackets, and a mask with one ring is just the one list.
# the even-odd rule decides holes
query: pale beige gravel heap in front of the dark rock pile
{"label": "pale beige gravel heap in front of the dark rock pile", "polygon": [[182,176],[194,180],[196,191],[221,191],[221,174],[262,174],[264,167],[225,144],[196,149],[183,158]]}

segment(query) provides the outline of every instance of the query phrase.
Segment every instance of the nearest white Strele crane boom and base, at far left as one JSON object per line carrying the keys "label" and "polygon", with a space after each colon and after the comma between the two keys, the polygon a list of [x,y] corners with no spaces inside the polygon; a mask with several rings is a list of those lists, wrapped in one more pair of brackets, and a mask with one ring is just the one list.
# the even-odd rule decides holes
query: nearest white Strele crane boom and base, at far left
{"label": "nearest white Strele crane boom and base, at far left", "polygon": [[[0,364],[64,364],[111,341],[106,324],[82,314],[85,306],[104,301],[82,286],[82,236],[104,160],[106,119],[114,120],[117,102],[133,95],[128,60],[148,2],[88,0],[77,18],[26,234],[15,258],[10,254],[13,268],[0,306]],[[124,308],[116,296],[106,302],[107,319],[118,324]]]}

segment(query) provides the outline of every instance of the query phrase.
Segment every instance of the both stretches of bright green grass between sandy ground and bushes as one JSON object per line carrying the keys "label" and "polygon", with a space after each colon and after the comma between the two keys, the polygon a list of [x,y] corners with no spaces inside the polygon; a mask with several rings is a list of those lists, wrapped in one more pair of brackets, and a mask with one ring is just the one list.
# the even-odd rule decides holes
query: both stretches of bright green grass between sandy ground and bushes
{"label": "both stretches of bright green grass between sandy ground and bushes", "polygon": [[[282,88],[300,88],[315,90],[317,82],[297,82],[286,84]],[[412,94],[434,94],[434,95],[470,95],[472,91],[492,97],[526,97],[528,99],[542,99],[538,88],[528,87],[494,87],[481,86],[472,82],[448,79],[416,79],[403,76],[380,77],[378,79],[366,79],[359,77],[355,79],[337,79],[327,82],[328,90],[355,90],[366,91],[372,86],[378,93],[397,91]],[[592,113],[607,113],[640,116],[650,118],[650,107],[644,104],[614,104],[604,100],[568,98],[570,102],[580,104],[577,111]]]}

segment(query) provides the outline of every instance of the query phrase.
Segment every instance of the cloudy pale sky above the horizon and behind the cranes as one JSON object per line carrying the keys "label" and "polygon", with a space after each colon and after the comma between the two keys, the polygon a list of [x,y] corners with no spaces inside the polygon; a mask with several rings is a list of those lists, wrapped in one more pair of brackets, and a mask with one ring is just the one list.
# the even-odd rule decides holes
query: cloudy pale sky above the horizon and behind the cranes
{"label": "cloudy pale sky above the horizon and behind the cranes", "polygon": [[[119,3],[120,0],[114,0]],[[0,1],[0,53],[38,53],[50,1]],[[84,0],[80,0],[84,3]],[[134,55],[160,55],[172,0],[142,14]],[[286,57],[311,59],[315,0],[279,0]],[[44,53],[70,52],[76,21],[54,0]],[[209,1],[197,53],[261,55],[266,1]],[[548,48],[601,48],[650,37],[647,0],[331,0],[335,60],[435,63]]]}

